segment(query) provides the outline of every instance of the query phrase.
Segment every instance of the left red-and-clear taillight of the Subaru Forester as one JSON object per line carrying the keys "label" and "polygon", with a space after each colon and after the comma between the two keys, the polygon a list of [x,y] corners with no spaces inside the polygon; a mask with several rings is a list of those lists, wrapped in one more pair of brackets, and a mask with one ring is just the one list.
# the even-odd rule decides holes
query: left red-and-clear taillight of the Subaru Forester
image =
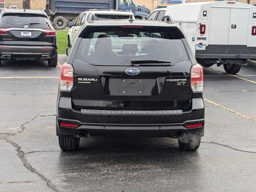
{"label": "left red-and-clear taillight of the Subaru Forester", "polygon": [[73,68],[69,64],[63,64],[60,68],[60,90],[71,91],[73,87]]}

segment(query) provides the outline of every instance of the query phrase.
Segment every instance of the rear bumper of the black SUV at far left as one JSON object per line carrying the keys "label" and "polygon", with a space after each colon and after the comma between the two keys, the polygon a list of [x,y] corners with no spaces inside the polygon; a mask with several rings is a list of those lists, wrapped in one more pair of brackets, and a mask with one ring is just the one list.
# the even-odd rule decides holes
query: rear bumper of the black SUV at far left
{"label": "rear bumper of the black SUV at far left", "polygon": [[0,46],[0,59],[38,58],[48,60],[56,57],[57,50],[53,46]]}

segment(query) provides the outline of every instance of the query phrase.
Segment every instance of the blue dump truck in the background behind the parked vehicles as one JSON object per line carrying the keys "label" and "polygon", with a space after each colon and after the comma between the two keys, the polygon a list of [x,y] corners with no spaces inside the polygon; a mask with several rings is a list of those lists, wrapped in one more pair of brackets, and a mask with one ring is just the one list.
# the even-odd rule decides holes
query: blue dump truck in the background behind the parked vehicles
{"label": "blue dump truck in the background behind the parked vehicles", "polygon": [[134,4],[133,0],[47,0],[46,13],[54,23],[54,28],[66,28],[68,20],[76,20],[77,16],[88,9],[128,10],[135,18],[142,19],[150,14],[150,9]]}

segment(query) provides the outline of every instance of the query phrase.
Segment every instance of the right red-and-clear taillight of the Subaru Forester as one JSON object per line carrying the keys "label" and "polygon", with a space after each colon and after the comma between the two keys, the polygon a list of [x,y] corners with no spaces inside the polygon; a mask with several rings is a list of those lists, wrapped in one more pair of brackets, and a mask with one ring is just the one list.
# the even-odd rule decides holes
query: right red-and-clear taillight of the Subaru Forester
{"label": "right red-and-clear taillight of the Subaru Forester", "polygon": [[193,92],[203,92],[203,68],[199,64],[193,65],[191,69],[190,86]]}

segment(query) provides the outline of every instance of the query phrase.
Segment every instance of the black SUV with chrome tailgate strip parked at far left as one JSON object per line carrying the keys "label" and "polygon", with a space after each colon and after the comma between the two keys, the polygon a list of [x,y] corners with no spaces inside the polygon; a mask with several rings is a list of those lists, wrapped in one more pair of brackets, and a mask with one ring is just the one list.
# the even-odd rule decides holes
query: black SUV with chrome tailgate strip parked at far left
{"label": "black SUV with chrome tailgate strip parked at far left", "polygon": [[1,60],[48,60],[57,65],[57,37],[43,10],[4,8],[0,13]]}

